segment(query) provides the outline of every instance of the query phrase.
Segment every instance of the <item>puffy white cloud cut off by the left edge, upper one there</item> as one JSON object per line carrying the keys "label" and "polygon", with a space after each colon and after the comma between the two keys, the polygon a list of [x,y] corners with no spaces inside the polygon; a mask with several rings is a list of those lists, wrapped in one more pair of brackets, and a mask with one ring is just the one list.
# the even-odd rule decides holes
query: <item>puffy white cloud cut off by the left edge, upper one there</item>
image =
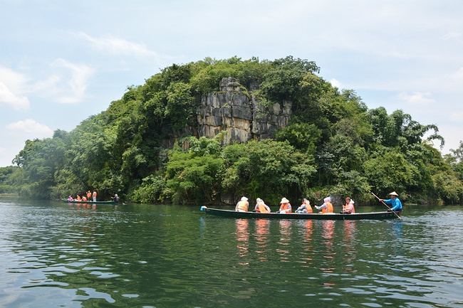
{"label": "puffy white cloud cut off by the left edge, upper one there", "polygon": [[15,110],[28,110],[26,91],[27,78],[21,73],[0,66],[0,105],[10,105]]}

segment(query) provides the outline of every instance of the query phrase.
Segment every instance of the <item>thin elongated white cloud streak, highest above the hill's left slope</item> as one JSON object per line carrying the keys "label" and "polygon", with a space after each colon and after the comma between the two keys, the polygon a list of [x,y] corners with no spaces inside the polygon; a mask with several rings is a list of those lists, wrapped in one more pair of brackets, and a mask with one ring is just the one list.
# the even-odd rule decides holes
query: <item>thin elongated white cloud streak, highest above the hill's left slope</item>
{"label": "thin elongated white cloud streak, highest above the hill's left slope", "polygon": [[114,36],[105,36],[103,38],[95,38],[86,33],[77,33],[78,37],[83,38],[90,43],[95,49],[105,53],[113,53],[115,55],[135,55],[140,57],[155,57],[158,60],[158,55],[154,51],[150,51],[145,44],[132,43]]}

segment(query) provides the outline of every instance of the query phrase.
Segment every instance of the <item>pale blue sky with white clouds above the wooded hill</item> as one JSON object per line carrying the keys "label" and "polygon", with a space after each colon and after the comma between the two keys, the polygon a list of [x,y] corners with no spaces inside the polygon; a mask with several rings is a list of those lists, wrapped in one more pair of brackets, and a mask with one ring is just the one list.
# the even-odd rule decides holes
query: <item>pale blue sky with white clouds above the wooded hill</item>
{"label": "pale blue sky with white clouds above the wooded hill", "polygon": [[[368,108],[463,139],[461,0],[0,0],[0,167],[127,87],[206,57],[293,55]],[[435,144],[440,149],[440,144]]]}

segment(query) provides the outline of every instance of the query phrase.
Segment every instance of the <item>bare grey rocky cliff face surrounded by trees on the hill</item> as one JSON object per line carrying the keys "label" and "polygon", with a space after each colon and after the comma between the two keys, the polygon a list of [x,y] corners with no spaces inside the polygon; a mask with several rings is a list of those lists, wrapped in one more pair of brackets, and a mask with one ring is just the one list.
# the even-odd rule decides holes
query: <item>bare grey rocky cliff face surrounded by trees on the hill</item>
{"label": "bare grey rocky cliff face surrounded by trees on the hill", "polygon": [[291,116],[291,102],[261,107],[252,94],[258,88],[259,85],[252,85],[246,92],[236,78],[223,78],[220,92],[201,98],[197,108],[199,137],[214,137],[226,130],[224,142],[247,142],[269,138],[276,129],[286,127]]}

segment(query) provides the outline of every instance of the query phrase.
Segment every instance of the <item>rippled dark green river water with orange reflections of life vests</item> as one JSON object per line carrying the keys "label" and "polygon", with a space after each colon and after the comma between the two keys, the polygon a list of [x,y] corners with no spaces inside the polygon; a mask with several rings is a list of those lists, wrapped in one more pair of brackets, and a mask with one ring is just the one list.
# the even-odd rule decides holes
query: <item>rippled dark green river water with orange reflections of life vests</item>
{"label": "rippled dark green river water with orange reflections of life vests", "polygon": [[462,221],[460,206],[285,221],[0,197],[0,307],[463,307]]}

